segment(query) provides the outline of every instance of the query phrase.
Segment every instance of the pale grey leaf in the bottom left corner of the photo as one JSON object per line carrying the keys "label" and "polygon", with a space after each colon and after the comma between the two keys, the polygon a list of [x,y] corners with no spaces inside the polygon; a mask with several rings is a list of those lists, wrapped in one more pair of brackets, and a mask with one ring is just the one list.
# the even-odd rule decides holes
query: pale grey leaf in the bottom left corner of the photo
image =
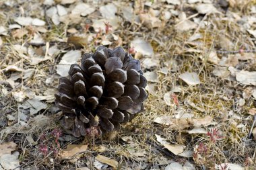
{"label": "pale grey leaf in the bottom left corner of the photo", "polygon": [[18,152],[2,155],[0,157],[0,165],[6,170],[20,169],[19,155],[20,153]]}

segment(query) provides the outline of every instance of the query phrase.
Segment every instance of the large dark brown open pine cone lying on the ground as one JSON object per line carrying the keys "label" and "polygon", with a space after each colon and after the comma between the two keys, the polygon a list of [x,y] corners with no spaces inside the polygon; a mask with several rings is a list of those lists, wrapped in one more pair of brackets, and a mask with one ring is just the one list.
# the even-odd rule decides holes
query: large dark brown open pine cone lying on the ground
{"label": "large dark brown open pine cone lying on the ground", "polygon": [[139,60],[122,47],[100,46],[94,54],[84,54],[81,67],[71,65],[69,78],[59,83],[55,102],[63,112],[62,126],[73,136],[85,136],[92,127],[119,129],[143,111],[148,97]]}

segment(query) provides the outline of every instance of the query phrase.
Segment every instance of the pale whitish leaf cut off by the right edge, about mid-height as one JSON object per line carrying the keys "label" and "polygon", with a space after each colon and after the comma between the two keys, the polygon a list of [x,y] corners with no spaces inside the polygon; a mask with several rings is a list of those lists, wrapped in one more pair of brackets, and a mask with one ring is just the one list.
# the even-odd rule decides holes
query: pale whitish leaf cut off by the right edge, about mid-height
{"label": "pale whitish leaf cut off by the right edge, about mid-height", "polygon": [[243,85],[256,85],[256,71],[239,71],[236,73],[236,81]]}

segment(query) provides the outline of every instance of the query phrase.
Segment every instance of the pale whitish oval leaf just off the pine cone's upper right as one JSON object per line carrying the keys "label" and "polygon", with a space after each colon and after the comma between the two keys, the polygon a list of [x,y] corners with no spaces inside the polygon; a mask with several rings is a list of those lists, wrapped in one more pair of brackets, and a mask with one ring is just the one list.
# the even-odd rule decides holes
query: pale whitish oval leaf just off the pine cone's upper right
{"label": "pale whitish oval leaf just off the pine cone's upper right", "polygon": [[150,43],[146,42],[141,38],[136,38],[131,41],[131,46],[134,47],[135,51],[140,52],[146,56],[152,56],[154,54],[153,48]]}

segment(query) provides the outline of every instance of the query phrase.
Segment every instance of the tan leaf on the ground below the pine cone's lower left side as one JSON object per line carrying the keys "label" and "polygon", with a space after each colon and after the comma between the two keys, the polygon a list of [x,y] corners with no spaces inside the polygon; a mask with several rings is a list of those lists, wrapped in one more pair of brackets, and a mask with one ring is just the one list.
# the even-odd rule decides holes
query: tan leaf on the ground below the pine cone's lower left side
{"label": "tan leaf on the ground below the pine cone's lower left side", "polygon": [[75,156],[76,154],[87,151],[87,148],[88,144],[69,144],[67,145],[67,148],[61,151],[61,158],[71,159],[71,157]]}

